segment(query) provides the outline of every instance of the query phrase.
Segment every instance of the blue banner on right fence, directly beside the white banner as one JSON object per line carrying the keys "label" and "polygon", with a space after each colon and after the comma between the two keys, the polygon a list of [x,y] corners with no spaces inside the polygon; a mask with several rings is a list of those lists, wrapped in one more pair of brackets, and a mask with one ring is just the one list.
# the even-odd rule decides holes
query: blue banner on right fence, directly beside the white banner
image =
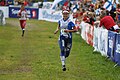
{"label": "blue banner on right fence, directly beside the white banner", "polygon": [[111,59],[114,58],[115,42],[116,42],[116,33],[113,31],[108,31],[108,52],[107,52],[107,55]]}

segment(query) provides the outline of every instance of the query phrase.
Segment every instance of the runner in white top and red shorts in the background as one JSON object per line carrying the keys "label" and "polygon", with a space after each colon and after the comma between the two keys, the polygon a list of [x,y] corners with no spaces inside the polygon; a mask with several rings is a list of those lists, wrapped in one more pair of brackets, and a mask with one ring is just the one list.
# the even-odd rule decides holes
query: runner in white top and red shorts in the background
{"label": "runner in white top and red shorts in the background", "polygon": [[21,5],[21,8],[18,12],[18,17],[19,17],[19,20],[20,20],[20,26],[21,26],[21,29],[22,29],[22,37],[24,36],[24,32],[25,32],[25,26],[26,26],[26,20],[27,20],[27,11],[25,10],[25,6],[24,4]]}

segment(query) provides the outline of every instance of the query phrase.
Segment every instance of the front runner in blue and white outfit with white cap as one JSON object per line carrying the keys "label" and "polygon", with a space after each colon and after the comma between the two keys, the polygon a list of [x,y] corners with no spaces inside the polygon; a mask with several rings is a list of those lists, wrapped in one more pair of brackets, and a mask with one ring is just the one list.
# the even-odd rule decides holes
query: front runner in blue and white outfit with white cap
{"label": "front runner in blue and white outfit with white cap", "polygon": [[59,47],[60,47],[60,59],[62,62],[62,70],[66,71],[65,60],[70,54],[72,47],[72,32],[76,32],[75,24],[69,18],[69,11],[62,11],[63,18],[58,21],[58,27],[55,30],[56,34],[60,30]]}

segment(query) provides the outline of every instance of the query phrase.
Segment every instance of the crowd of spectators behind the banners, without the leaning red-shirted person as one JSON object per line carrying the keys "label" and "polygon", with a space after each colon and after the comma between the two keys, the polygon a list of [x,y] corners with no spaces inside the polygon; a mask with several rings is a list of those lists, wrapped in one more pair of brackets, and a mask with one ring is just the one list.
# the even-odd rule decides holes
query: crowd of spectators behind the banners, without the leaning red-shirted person
{"label": "crowd of spectators behind the banners, without the leaning red-shirted person", "polygon": [[[8,5],[20,5],[24,3],[25,6],[32,6],[36,0],[0,0],[0,6],[8,6]],[[109,0],[66,0],[62,6],[60,4],[57,5],[57,9],[69,9],[75,19],[75,22],[80,23],[84,21],[89,23],[90,25],[95,25],[96,21],[101,20],[102,11],[106,12],[106,16],[111,16],[115,23],[120,26],[120,2],[112,3],[112,9],[107,10],[104,8],[104,4]],[[41,5],[39,7],[42,8],[43,0],[41,0]]]}

